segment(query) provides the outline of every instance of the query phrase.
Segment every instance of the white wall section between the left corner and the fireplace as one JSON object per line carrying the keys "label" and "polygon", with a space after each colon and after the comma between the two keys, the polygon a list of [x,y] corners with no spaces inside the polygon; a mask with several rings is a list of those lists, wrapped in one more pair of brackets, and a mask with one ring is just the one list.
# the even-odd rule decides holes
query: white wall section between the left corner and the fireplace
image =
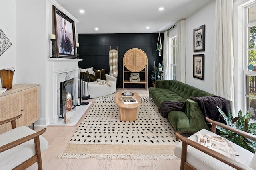
{"label": "white wall section between the left corner and the fireplace", "polygon": [[46,46],[46,2],[45,0],[16,1],[16,82],[17,84],[39,84],[40,119],[46,119],[45,80],[48,57]]}

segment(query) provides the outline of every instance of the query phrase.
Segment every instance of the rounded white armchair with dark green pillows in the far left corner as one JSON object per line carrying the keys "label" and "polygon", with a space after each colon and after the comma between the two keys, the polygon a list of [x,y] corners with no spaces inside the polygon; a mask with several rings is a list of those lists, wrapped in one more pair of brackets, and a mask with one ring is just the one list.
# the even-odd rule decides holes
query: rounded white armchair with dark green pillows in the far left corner
{"label": "rounded white armchair with dark green pillows in the far left corner", "polygon": [[[90,98],[107,96],[109,94],[116,92],[116,78],[108,74],[105,74],[105,75],[106,75],[106,79],[110,80],[112,84],[111,87],[106,84],[100,85],[100,84],[95,84],[95,82],[85,82],[83,80],[78,80],[78,97],[80,97],[80,89],[82,89],[81,90],[82,97],[90,95]],[[82,88],[80,88],[80,86]]]}

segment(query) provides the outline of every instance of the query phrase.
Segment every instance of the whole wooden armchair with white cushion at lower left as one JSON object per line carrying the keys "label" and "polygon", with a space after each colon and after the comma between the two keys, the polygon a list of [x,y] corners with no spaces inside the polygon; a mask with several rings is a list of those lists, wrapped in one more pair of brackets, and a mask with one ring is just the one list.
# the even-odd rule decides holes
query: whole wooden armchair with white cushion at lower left
{"label": "whole wooden armchair with white cushion at lower left", "polygon": [[26,169],[37,162],[38,170],[42,170],[41,152],[49,147],[48,141],[41,131],[34,131],[26,126],[16,127],[16,119],[22,115],[0,122],[9,123],[12,129],[0,134],[0,169]]}

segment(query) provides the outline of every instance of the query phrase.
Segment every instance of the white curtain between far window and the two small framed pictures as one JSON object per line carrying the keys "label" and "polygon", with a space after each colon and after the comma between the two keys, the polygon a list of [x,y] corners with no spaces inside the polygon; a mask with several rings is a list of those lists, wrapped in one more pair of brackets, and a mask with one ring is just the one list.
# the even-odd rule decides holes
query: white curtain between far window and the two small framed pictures
{"label": "white curtain between far window and the two small framed pictures", "polygon": [[177,23],[177,80],[186,83],[186,20]]}

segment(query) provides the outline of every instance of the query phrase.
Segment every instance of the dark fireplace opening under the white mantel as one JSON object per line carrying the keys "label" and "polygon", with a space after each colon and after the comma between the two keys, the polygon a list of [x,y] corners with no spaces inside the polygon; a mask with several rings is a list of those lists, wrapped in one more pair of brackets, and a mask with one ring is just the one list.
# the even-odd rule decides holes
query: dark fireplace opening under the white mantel
{"label": "dark fireplace opening under the white mantel", "polygon": [[72,97],[73,105],[73,96],[74,96],[74,79],[70,79],[64,82],[60,82],[60,118],[64,118],[63,113],[65,112],[66,107],[66,95],[70,93]]}

